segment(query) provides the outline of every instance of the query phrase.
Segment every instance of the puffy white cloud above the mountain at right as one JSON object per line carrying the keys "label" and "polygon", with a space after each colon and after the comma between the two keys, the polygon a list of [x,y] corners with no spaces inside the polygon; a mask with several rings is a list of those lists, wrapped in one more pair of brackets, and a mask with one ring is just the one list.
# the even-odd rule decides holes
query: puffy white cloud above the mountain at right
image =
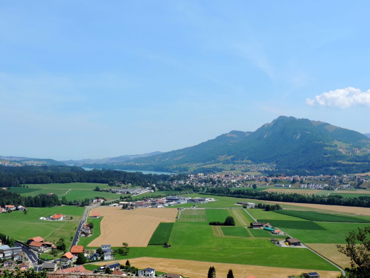
{"label": "puffy white cloud above the mountain at right", "polygon": [[370,107],[370,90],[361,92],[360,89],[347,87],[345,89],[336,89],[317,95],[314,99],[307,98],[308,105],[321,105],[329,107],[348,108],[351,106],[369,106]]}

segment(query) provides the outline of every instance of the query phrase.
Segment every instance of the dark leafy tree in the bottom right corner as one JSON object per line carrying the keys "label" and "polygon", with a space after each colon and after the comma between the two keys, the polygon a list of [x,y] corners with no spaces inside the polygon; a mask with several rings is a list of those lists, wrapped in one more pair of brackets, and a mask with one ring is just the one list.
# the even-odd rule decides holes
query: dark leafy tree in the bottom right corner
{"label": "dark leafy tree in the bottom right corner", "polygon": [[370,277],[370,226],[358,230],[349,232],[346,246],[337,245],[339,252],[351,258],[352,268],[346,269],[349,278]]}

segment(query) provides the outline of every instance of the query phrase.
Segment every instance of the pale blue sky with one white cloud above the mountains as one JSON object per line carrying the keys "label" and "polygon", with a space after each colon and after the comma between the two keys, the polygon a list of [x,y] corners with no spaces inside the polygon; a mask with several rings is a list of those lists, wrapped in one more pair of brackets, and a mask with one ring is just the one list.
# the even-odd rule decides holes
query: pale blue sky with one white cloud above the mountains
{"label": "pale blue sky with one white cloud above the mountains", "polygon": [[369,6],[3,1],[0,155],[168,151],[280,115],[370,132]]}

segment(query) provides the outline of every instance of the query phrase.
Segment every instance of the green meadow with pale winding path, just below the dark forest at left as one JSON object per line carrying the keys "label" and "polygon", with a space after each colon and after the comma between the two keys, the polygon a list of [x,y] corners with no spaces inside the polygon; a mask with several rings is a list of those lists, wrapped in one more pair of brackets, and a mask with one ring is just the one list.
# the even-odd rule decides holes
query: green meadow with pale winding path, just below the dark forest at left
{"label": "green meadow with pale winding path, just below the dark forest at left", "polygon": [[[108,200],[117,199],[120,195],[109,193],[109,192],[96,192],[95,189],[98,186],[100,189],[109,187],[105,183],[88,183],[88,182],[71,182],[71,183],[47,183],[47,184],[28,184],[28,188],[32,191],[19,192],[22,196],[36,196],[38,194],[54,193],[59,196],[65,196],[67,201],[73,200],[84,200],[85,198],[92,199],[95,196],[103,197]],[[14,189],[23,190],[23,189]],[[17,192],[18,193],[18,192]]]}

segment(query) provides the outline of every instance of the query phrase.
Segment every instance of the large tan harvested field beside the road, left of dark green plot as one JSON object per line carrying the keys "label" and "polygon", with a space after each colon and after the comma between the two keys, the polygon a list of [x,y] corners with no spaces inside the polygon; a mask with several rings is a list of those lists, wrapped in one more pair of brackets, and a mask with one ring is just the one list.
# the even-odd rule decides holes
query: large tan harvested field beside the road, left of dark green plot
{"label": "large tan harvested field beside the road, left of dark green plot", "polygon": [[177,209],[138,208],[128,211],[121,207],[103,206],[90,211],[104,216],[100,223],[101,234],[87,246],[111,244],[145,247],[160,222],[175,222]]}

